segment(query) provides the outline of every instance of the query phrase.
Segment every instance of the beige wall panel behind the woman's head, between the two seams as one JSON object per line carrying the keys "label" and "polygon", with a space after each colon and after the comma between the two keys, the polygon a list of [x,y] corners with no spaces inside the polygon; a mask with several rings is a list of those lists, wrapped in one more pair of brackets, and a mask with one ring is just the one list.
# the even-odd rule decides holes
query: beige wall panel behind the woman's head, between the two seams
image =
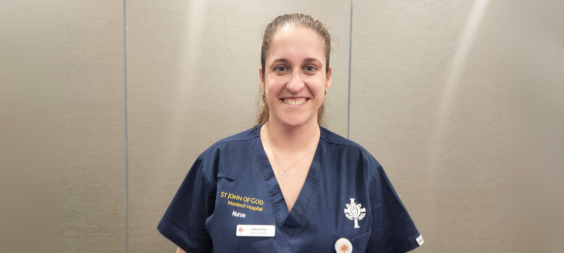
{"label": "beige wall panel behind the woman's head, between the two seams", "polygon": [[126,11],[130,252],[174,252],[156,226],[188,169],[253,126],[261,33],[277,15],[311,14],[340,42],[329,128],[346,135],[350,2],[131,1]]}

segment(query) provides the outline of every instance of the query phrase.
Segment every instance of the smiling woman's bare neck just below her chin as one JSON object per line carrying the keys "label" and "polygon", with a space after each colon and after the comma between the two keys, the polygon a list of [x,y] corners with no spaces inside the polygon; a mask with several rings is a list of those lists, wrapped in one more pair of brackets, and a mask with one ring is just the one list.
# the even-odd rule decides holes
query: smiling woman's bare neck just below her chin
{"label": "smiling woman's bare neck just below her chin", "polygon": [[[315,117],[317,119],[317,117]],[[270,144],[276,150],[301,151],[311,149],[313,143],[319,138],[319,125],[317,121],[307,122],[299,127],[291,128],[279,124],[272,118],[261,128],[261,132],[266,134]]]}

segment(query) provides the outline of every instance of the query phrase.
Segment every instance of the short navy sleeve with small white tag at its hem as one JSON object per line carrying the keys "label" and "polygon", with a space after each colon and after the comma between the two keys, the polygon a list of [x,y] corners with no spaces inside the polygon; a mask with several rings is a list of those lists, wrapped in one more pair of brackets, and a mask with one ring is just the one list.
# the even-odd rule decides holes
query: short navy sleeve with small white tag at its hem
{"label": "short navy sleeve with small white tag at its hem", "polygon": [[405,253],[420,246],[420,234],[379,164],[369,184],[369,194],[372,232],[367,252]]}

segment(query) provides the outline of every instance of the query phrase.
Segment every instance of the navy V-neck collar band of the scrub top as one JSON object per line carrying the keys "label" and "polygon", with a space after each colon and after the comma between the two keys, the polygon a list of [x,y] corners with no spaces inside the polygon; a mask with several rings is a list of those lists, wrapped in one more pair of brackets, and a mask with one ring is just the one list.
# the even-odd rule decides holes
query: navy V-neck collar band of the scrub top
{"label": "navy V-neck collar band of the scrub top", "polygon": [[[292,207],[292,210],[288,212],[288,206],[280,189],[280,185],[276,179],[274,171],[272,171],[272,165],[268,160],[265,149],[262,146],[262,141],[260,138],[260,130],[262,125],[258,125],[252,131],[252,134],[256,134],[254,137],[249,138],[250,146],[252,147],[255,155],[257,156],[257,163],[259,167],[259,172],[265,182],[266,189],[270,194],[272,203],[272,213],[275,216],[277,225],[280,226],[284,232],[288,234],[290,239],[302,228],[302,224],[307,220],[307,216],[310,215],[312,206],[315,205],[316,192],[320,188],[322,182],[321,175],[323,175],[325,156],[329,153],[329,146],[326,142],[321,141],[324,139],[324,129],[320,128],[320,141],[318,143],[317,149],[315,150],[314,159],[311,162],[311,167],[306,176],[306,181],[303,183],[302,189],[299,191],[298,198]],[[289,179],[289,178],[285,178]]]}

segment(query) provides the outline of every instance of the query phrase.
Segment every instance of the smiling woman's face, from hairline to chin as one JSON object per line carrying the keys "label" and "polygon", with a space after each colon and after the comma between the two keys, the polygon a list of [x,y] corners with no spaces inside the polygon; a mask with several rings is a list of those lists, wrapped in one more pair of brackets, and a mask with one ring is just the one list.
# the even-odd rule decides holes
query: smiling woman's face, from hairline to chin
{"label": "smiling woman's face, from hairline to chin", "polygon": [[270,42],[265,75],[259,69],[271,123],[285,127],[317,124],[325,89],[331,86],[331,67],[325,72],[325,45],[309,28],[283,28]]}

